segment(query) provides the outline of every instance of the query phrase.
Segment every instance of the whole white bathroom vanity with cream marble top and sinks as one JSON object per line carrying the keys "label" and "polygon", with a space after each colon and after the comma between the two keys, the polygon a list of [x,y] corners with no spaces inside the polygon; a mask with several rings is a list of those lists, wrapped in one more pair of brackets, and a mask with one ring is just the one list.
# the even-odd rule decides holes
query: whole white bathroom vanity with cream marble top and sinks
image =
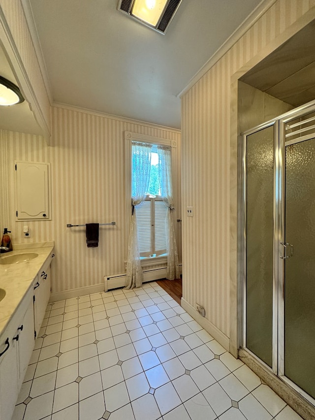
{"label": "whole white bathroom vanity with cream marble top and sinks", "polygon": [[0,257],[0,420],[10,420],[50,297],[53,242]]}

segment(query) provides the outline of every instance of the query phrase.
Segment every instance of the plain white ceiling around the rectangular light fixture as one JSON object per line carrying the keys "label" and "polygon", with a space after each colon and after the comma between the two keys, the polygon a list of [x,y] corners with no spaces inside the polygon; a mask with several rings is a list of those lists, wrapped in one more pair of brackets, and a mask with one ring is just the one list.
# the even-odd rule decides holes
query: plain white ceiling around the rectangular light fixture
{"label": "plain white ceiling around the rectangular light fixture", "polygon": [[51,100],[179,129],[178,94],[260,1],[183,0],[162,35],[117,0],[29,0]]}

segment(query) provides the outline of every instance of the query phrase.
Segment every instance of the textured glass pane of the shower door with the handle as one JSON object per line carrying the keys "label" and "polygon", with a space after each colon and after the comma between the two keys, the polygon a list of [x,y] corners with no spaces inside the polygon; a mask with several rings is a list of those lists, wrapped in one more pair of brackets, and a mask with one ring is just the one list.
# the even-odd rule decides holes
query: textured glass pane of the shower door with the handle
{"label": "textured glass pane of the shower door with the handle", "polygon": [[315,139],[285,148],[285,241],[284,375],[315,398]]}

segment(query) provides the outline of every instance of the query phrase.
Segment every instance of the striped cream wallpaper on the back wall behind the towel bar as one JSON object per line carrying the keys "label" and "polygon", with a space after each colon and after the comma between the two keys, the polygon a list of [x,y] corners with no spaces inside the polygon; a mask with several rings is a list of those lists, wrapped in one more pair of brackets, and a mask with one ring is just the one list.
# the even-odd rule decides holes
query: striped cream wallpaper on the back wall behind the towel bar
{"label": "striped cream wallpaper on the back wall behind the towel bar", "polygon": [[[12,229],[12,242],[54,240],[56,259],[52,291],[96,285],[103,276],[125,272],[129,214],[125,194],[124,131],[177,140],[172,160],[177,177],[176,213],[181,218],[180,131],[52,107],[52,146],[41,136],[2,131],[4,197],[8,200],[1,226]],[[15,222],[14,160],[51,162],[52,221],[27,222],[32,237],[23,238],[24,222]],[[4,173],[3,173],[4,172]],[[7,178],[7,179],[5,179]],[[110,223],[100,227],[98,248],[87,248],[85,228],[66,224]],[[181,244],[181,224],[177,226]],[[181,258],[181,252],[180,252]]]}

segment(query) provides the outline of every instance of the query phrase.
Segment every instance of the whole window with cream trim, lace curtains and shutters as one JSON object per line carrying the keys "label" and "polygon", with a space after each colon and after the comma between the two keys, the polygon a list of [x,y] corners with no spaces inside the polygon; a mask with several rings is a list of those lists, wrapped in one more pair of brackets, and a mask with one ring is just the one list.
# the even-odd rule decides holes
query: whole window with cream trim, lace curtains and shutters
{"label": "whole window with cream trim, lace curtains and shutters", "polygon": [[[171,151],[173,147],[177,147],[177,143],[176,140],[125,131],[125,146],[126,204],[131,210],[126,288],[132,289],[141,286],[143,282],[141,258],[165,256],[158,260],[158,263],[166,262],[165,277],[169,280],[180,277],[172,215],[175,203],[172,189]],[[141,205],[144,206],[142,210]],[[163,219],[165,227],[162,226]],[[139,243],[142,257],[139,252]],[[164,252],[165,248],[167,255]],[[149,263],[151,265],[151,261]]]}

